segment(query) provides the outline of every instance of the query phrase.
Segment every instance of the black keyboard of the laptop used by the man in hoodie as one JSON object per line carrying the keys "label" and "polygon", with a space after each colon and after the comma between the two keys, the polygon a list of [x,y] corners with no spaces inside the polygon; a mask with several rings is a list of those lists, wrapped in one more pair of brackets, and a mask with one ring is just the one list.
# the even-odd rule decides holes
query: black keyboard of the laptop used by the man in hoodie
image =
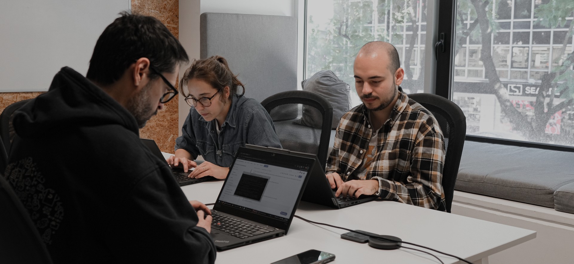
{"label": "black keyboard of the laptop used by the man in hoodie", "polygon": [[272,229],[258,226],[256,224],[247,223],[245,221],[231,218],[229,216],[220,215],[214,211],[211,211],[211,216],[213,221],[211,222],[211,228],[219,231],[226,232],[236,238],[250,238],[251,236],[261,235],[273,231]]}

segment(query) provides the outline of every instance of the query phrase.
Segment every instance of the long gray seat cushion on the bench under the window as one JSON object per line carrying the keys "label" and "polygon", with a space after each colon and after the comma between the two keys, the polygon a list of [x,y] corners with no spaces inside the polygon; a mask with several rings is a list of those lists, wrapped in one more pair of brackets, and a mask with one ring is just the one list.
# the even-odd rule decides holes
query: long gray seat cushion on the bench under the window
{"label": "long gray seat cushion on the bench under the window", "polygon": [[574,183],[574,153],[464,142],[455,189],[554,207],[554,192]]}

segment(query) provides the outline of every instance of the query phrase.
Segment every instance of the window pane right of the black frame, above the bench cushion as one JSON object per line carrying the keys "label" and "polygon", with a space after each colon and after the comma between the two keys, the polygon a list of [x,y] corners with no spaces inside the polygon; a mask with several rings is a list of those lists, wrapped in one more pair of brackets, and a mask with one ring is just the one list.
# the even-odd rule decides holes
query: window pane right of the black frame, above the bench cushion
{"label": "window pane right of the black frame, above the bench cushion", "polygon": [[451,99],[467,134],[574,146],[574,1],[483,2],[456,6]]}

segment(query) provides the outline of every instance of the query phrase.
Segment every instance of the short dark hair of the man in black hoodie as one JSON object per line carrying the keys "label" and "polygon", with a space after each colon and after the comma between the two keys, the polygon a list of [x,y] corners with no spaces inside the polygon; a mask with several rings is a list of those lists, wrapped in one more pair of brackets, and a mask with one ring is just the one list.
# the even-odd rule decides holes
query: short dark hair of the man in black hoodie
{"label": "short dark hair of the man in black hoodie", "polygon": [[[139,58],[150,60],[158,72],[173,72],[179,63],[188,63],[183,46],[157,18],[119,13],[98,38],[86,77],[107,86],[119,80]],[[150,72],[150,78],[158,75]]]}

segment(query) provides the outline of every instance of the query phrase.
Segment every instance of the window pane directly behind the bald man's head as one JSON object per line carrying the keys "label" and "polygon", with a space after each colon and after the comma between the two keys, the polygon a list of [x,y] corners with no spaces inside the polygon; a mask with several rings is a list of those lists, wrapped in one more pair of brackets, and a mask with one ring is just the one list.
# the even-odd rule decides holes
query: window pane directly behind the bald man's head
{"label": "window pane directly behind the bald man's head", "polygon": [[[360,47],[369,41],[382,40],[395,45],[405,69],[401,86],[407,93],[423,90],[425,0],[307,1],[306,34],[305,78],[330,69],[351,86],[354,106],[361,102],[354,90],[353,62]],[[470,61],[479,65],[478,55],[473,56]],[[477,67],[472,75],[482,77],[482,68]]]}

